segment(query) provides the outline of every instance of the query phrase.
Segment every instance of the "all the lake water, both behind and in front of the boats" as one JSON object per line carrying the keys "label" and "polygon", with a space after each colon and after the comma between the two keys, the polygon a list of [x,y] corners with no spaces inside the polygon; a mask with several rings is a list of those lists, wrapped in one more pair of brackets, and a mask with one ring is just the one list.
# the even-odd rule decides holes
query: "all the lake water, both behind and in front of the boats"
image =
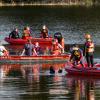
{"label": "all the lake water, both behind and in front of the boats", "polygon": [[[32,36],[39,36],[42,25],[50,33],[61,32],[65,44],[83,44],[84,33],[91,33],[96,46],[95,61],[100,62],[100,7],[1,7],[0,40],[3,44],[13,28],[20,35],[30,26]],[[11,52],[16,46],[6,45]],[[20,48],[17,47],[19,50]],[[66,50],[67,51],[67,50]],[[50,74],[49,68],[62,73]],[[65,63],[0,64],[0,100],[100,100],[100,80],[66,75]]]}

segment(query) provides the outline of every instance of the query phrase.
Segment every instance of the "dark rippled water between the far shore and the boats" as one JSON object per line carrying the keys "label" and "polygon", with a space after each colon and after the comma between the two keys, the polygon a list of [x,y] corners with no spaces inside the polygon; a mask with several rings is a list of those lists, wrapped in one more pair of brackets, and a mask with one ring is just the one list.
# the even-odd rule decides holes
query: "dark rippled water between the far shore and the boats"
{"label": "dark rippled water between the far shore and the boats", "polygon": [[84,33],[91,33],[100,44],[100,7],[1,7],[0,39],[17,27],[20,34],[30,26],[33,36],[38,36],[43,24],[51,34],[61,32],[66,44],[84,43]]}

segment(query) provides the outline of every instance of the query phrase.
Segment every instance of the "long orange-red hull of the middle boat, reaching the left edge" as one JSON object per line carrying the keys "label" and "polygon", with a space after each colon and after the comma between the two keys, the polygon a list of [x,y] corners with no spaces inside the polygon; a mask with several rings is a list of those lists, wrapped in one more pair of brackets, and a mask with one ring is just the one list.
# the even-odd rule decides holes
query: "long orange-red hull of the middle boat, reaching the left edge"
{"label": "long orange-red hull of the middle boat, reaching the left edge", "polygon": [[39,56],[8,56],[0,57],[0,63],[6,62],[36,62],[36,61],[67,61],[69,58],[69,54],[62,54],[62,55],[39,55]]}

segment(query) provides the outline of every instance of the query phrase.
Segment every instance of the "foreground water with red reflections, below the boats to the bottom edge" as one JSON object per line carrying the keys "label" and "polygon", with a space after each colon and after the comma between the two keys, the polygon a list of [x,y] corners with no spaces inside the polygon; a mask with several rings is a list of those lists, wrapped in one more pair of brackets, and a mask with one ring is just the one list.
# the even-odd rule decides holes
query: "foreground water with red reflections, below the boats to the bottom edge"
{"label": "foreground water with red reflections, below the boats to the bottom edge", "polygon": [[[100,100],[100,80],[66,75],[65,63],[0,66],[1,100]],[[55,74],[50,74],[50,66]],[[62,69],[62,73],[58,72]]]}

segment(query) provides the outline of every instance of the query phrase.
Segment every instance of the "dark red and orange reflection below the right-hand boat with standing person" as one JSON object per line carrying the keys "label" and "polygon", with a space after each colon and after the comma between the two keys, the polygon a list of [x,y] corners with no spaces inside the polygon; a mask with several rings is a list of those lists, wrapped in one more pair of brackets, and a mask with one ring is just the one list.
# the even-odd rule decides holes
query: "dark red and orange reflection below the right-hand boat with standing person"
{"label": "dark red and orange reflection below the right-hand boat with standing person", "polygon": [[98,82],[99,79],[93,79],[92,77],[90,77],[89,79],[88,78],[71,78],[70,82],[68,83],[68,86],[69,90],[74,93],[72,93],[73,100],[99,100],[96,99],[95,94],[95,82]]}

